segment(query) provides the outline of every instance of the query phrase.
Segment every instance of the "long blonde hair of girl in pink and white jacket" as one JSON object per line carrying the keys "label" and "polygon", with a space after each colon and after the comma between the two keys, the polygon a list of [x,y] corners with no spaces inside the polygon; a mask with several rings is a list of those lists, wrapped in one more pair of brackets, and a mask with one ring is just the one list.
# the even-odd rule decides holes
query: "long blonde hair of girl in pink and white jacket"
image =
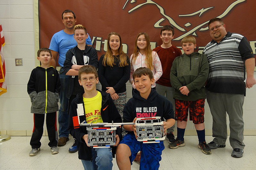
{"label": "long blonde hair of girl in pink and white jacket", "polygon": [[145,48],[145,55],[146,55],[146,60],[145,60],[145,63],[147,65],[147,67],[150,69],[150,70],[153,70],[154,69],[154,66],[153,66],[153,59],[152,59],[152,50],[150,48],[150,41],[149,41],[149,36],[147,33],[139,33],[137,35],[137,38],[135,40],[135,45],[134,45],[134,50],[133,50],[133,54],[132,54],[132,61],[131,61],[131,64],[132,62],[135,62],[138,55],[139,55],[139,47],[137,46],[137,41],[138,41],[138,38],[140,35],[144,35],[145,36],[145,39],[147,41],[147,47]]}

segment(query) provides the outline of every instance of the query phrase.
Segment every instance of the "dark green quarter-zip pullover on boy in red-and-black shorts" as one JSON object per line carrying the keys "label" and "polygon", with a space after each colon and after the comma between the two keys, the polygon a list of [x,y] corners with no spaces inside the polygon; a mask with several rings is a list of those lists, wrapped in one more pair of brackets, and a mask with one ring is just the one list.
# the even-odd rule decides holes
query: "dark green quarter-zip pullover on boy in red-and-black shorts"
{"label": "dark green quarter-zip pullover on boy in red-and-black shorts", "polygon": [[[194,52],[180,55],[172,63],[170,80],[174,99],[196,101],[205,99],[204,84],[208,78],[209,64],[206,55]],[[181,94],[179,88],[187,86],[188,96]]]}

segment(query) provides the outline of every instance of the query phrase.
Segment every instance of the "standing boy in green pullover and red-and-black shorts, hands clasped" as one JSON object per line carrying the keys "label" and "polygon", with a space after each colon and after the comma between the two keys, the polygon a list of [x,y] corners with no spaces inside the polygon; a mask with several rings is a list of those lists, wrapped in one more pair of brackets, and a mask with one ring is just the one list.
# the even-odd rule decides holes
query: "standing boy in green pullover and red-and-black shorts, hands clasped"
{"label": "standing boy in green pullover and red-and-black shorts, hands clasped", "polygon": [[199,144],[198,148],[204,154],[211,154],[211,149],[205,142],[204,130],[204,84],[209,74],[209,64],[206,55],[194,52],[196,39],[186,36],[181,40],[184,54],[174,59],[170,80],[174,91],[175,120],[177,120],[177,138],[169,148],[185,146],[184,133],[189,119],[193,121]]}

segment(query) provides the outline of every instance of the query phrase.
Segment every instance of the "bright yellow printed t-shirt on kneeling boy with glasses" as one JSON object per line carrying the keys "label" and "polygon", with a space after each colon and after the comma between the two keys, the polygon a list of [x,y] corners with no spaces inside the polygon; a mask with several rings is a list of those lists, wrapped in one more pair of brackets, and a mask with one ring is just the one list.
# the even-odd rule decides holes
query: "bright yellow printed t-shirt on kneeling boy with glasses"
{"label": "bright yellow printed t-shirt on kneeling boy with glasses", "polygon": [[101,93],[98,91],[98,94],[93,98],[84,98],[84,110],[85,110],[85,117],[86,123],[103,123],[101,118],[101,101],[102,96]]}

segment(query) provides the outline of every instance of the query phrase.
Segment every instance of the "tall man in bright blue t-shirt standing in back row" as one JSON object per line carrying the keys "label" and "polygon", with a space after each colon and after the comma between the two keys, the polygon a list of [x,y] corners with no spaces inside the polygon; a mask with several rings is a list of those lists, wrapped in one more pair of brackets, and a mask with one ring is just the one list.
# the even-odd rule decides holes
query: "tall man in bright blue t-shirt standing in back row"
{"label": "tall man in bright blue t-shirt standing in back row", "polygon": [[[68,139],[68,98],[66,98],[66,89],[68,86],[68,78],[63,70],[63,64],[66,59],[66,53],[70,48],[76,47],[77,43],[74,39],[74,26],[76,25],[76,15],[71,10],[62,12],[62,22],[65,29],[55,33],[52,36],[49,49],[52,52],[51,65],[56,68],[57,56],[59,54],[58,64],[60,65],[60,110],[59,110],[59,140],[58,146],[63,146],[67,143]],[[86,39],[86,45],[92,46],[90,36]],[[70,147],[69,152],[76,152],[76,144]]]}

